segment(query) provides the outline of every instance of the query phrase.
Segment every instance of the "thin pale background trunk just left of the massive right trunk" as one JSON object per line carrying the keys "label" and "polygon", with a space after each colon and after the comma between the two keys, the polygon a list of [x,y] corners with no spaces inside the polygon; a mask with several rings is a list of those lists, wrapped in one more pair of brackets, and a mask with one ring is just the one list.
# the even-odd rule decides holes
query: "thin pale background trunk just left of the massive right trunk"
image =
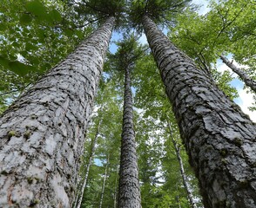
{"label": "thin pale background trunk just left of the massive right trunk", "polygon": [[185,192],[187,193],[187,198],[189,200],[190,206],[192,208],[196,208],[196,203],[193,200],[192,192],[189,190],[188,181],[187,181],[187,178],[186,178],[186,175],[185,175],[185,171],[184,171],[183,161],[182,161],[182,158],[180,156],[180,148],[179,148],[179,146],[177,144],[177,141],[173,137],[172,127],[171,127],[171,124],[170,124],[170,122],[168,120],[167,120],[167,123],[168,123],[168,128],[169,128],[169,131],[170,131],[170,136],[171,136],[172,144],[174,146],[177,159],[179,161],[179,171],[180,171],[180,174],[181,174],[183,185],[185,187]]}

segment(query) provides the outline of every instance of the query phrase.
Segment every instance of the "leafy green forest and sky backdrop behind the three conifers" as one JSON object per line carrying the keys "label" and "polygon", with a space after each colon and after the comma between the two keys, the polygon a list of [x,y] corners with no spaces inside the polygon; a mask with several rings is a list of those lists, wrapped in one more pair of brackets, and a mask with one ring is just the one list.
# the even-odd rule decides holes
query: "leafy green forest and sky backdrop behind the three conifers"
{"label": "leafy green forest and sky backdrop behind the three conifers", "polygon": [[[251,6],[247,7],[248,5]],[[172,42],[190,55],[200,67],[206,65],[211,68],[213,79],[219,88],[237,101],[245,113],[255,120],[255,111],[253,104],[251,105],[251,102],[255,103],[253,92],[244,88],[237,78],[234,79],[232,71],[226,65],[220,66],[218,57],[218,53],[223,52],[230,61],[233,58],[234,64],[244,68],[246,73],[255,79],[255,3],[249,0],[218,3],[212,1],[208,6],[205,10],[199,10],[199,13],[195,9],[184,10],[175,16],[173,23],[160,27]],[[79,42],[98,27],[100,19],[89,18],[84,23],[84,15],[74,10],[78,9],[76,6],[72,7],[68,1],[2,1],[2,112],[20,94],[24,94],[38,77],[63,60]],[[211,32],[207,33],[207,29]],[[238,29],[238,32],[235,29]],[[84,143],[83,165],[75,188],[77,201],[83,197],[82,207],[117,206],[124,75],[115,66],[114,60],[122,46],[120,37],[129,37],[122,35],[120,31],[121,29],[112,36],[111,53],[107,55],[104,64],[104,75],[95,101],[91,127]],[[191,39],[182,38],[184,31],[186,35],[191,35]],[[228,42],[230,31],[234,31],[238,36],[234,38],[235,41]],[[134,40],[146,43],[145,36],[131,36]],[[196,44],[193,39],[201,42]],[[200,49],[202,45],[208,47],[208,53]],[[142,50],[140,59],[134,62],[131,74],[142,205],[190,207],[194,204],[195,207],[203,207],[198,181],[189,166],[176,121],[170,113],[172,107],[159,79],[158,68],[147,46],[137,42],[134,47],[136,50]],[[194,54],[192,49],[200,50],[201,54]],[[234,87],[238,87],[239,91]],[[248,93],[245,93],[247,91]],[[247,103],[250,104],[246,105]],[[248,106],[251,111],[247,111]],[[182,158],[183,163],[180,163],[179,158]],[[182,169],[185,171],[182,172]],[[86,174],[88,179],[83,189],[81,187]],[[190,192],[193,201],[189,200]]]}

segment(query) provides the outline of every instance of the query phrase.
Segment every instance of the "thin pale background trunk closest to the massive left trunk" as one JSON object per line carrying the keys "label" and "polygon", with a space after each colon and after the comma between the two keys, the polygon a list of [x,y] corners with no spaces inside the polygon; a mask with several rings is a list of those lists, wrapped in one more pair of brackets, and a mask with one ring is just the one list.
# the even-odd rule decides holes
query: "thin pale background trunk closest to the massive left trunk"
{"label": "thin pale background trunk closest to the massive left trunk", "polygon": [[83,185],[81,187],[80,197],[79,197],[79,200],[78,200],[77,204],[75,204],[76,208],[80,208],[80,206],[82,204],[82,200],[83,200],[83,197],[84,197],[84,189],[87,185],[87,179],[88,179],[88,176],[89,176],[91,163],[92,163],[94,153],[95,153],[95,150],[96,150],[96,144],[97,144],[97,140],[98,140],[100,125],[101,125],[101,120],[98,121],[98,127],[97,127],[97,131],[95,133],[95,137],[94,137],[93,140],[91,140],[91,153],[90,153],[88,163],[87,163],[87,166],[86,166],[86,172],[85,172],[85,175],[84,175],[84,182],[83,182]]}

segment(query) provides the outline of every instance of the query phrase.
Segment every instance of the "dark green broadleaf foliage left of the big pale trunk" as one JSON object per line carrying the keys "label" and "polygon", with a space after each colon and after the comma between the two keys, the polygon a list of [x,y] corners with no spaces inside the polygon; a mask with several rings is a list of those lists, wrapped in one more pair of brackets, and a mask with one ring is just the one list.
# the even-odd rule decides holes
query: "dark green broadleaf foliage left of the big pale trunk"
{"label": "dark green broadleaf foliage left of the big pale trunk", "polygon": [[82,20],[64,1],[3,0],[0,17],[0,102],[6,106],[91,32],[77,28]]}

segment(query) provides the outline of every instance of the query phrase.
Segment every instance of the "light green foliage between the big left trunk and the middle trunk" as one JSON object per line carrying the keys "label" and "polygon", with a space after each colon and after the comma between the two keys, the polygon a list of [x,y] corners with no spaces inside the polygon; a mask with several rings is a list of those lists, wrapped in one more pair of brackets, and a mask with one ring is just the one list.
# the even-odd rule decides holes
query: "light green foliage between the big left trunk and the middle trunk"
{"label": "light green foliage between the big left trunk and the middle trunk", "polygon": [[103,207],[113,207],[114,195],[118,188],[118,164],[121,137],[122,101],[118,99],[119,92],[114,80],[101,81],[96,99],[96,109],[91,121],[91,127],[86,133],[84,144],[83,165],[80,170],[83,178],[87,161],[91,153],[91,140],[94,139],[98,128],[98,120],[102,120],[99,129],[97,149],[91,166],[88,185],[84,190],[82,207],[98,207],[104,176],[104,166],[108,155],[110,164],[106,179]]}

